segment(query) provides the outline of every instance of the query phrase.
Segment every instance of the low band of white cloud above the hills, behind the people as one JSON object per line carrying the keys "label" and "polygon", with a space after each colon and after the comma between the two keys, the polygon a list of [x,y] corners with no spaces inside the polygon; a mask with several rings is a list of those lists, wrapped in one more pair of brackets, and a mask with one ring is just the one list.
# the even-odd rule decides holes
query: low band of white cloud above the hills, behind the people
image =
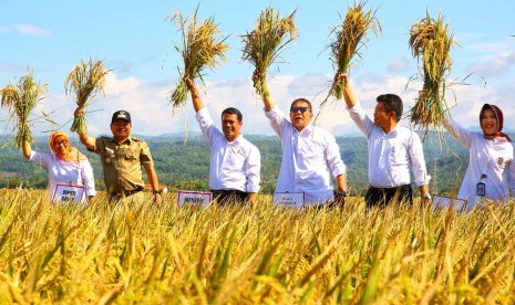
{"label": "low band of white cloud above the hills, behind the people", "polygon": [[[303,96],[313,102],[313,111],[318,112],[320,103],[326,97],[326,87],[331,75],[280,75],[269,80],[269,88],[278,107],[284,112],[290,106],[291,101]],[[375,97],[383,93],[394,93],[404,101],[404,113],[408,113],[414,104],[420,83],[412,82],[405,90],[408,78],[402,76],[379,76],[362,74],[351,78],[357,98],[361,102],[369,115],[373,114]],[[175,83],[175,82],[174,82]],[[192,102],[188,98],[184,108],[172,116],[172,106],[168,102],[169,92],[174,83],[150,84],[134,76],[120,78],[111,72],[106,80],[105,97],[99,96],[99,101],[87,107],[87,130],[90,135],[109,135],[111,116],[115,111],[125,109],[131,113],[133,119],[133,133],[147,136],[157,136],[168,133],[182,133],[186,130],[199,130],[194,118]],[[203,88],[199,82],[202,98],[209,109],[217,126],[220,125],[222,111],[227,107],[236,107],[244,114],[244,134],[272,135],[268,119],[262,112],[262,102],[254,93],[249,77],[224,82],[206,82]],[[455,86],[457,106],[454,96],[447,92],[447,103],[452,108],[453,117],[463,126],[477,126],[477,115],[484,103],[498,105],[505,113],[505,117],[513,117],[512,94],[515,91],[514,83],[507,83],[501,87],[484,85]],[[301,93],[298,94],[298,93]],[[72,98],[64,94],[49,94],[39,109],[50,114],[61,128],[68,130],[73,118],[76,105]],[[403,119],[402,125],[406,125]],[[358,128],[351,122],[344,108],[343,101],[329,101],[320,113],[318,126],[326,128],[336,136],[359,134]],[[505,128],[514,129],[508,119]],[[34,132],[55,129],[49,123],[38,122]]]}

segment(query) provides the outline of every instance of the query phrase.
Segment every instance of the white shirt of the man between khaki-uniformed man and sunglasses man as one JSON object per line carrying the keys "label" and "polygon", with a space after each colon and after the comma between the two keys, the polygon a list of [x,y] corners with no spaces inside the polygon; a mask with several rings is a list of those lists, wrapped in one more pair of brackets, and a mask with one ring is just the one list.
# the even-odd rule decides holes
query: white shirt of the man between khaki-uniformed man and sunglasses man
{"label": "white shirt of the man between khaki-uniformed man and sunglasses man", "polygon": [[259,149],[243,135],[228,141],[206,107],[195,114],[210,150],[209,188],[213,190],[236,189],[258,192],[261,155]]}

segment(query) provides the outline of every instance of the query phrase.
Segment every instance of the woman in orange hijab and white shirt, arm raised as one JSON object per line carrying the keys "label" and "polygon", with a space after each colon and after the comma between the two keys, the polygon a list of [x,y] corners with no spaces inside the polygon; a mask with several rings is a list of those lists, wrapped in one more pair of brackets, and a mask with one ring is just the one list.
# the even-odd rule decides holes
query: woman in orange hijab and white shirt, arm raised
{"label": "woman in orange hijab and white shirt, arm raised", "polygon": [[[53,201],[62,201],[56,196],[56,187],[70,186],[84,189],[81,201],[85,202],[96,194],[93,169],[87,157],[82,155],[75,147],[70,146],[66,133],[56,130],[50,135],[49,146],[52,154],[38,152],[31,149],[30,143],[24,141],[22,146],[23,156],[31,162],[40,165],[49,171],[49,196]],[[70,191],[68,191],[70,193]]]}

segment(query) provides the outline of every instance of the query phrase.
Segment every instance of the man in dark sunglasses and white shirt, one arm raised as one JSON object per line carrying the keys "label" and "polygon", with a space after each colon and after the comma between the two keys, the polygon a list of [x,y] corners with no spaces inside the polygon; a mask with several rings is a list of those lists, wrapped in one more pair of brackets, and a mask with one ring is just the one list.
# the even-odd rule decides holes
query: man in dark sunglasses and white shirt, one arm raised
{"label": "man in dark sunglasses and white shirt, one arm raised", "polygon": [[268,92],[261,97],[265,115],[282,146],[276,192],[303,192],[305,203],[310,206],[342,204],[347,196],[346,165],[334,136],[311,124],[311,103],[306,98],[295,99],[288,120]]}

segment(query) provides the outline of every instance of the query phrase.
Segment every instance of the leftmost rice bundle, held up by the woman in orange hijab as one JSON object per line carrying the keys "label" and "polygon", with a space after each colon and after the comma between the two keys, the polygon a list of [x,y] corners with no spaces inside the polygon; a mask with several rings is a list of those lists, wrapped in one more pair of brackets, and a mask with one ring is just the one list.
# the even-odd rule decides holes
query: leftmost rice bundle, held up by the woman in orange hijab
{"label": "leftmost rice bundle, held up by the woman in orange hijab", "polygon": [[43,99],[44,90],[40,83],[34,82],[32,73],[21,77],[18,84],[9,84],[0,90],[1,106],[10,113],[10,120],[16,120],[13,130],[14,143],[18,148],[23,141],[33,141],[30,132],[29,116],[38,103]]}

